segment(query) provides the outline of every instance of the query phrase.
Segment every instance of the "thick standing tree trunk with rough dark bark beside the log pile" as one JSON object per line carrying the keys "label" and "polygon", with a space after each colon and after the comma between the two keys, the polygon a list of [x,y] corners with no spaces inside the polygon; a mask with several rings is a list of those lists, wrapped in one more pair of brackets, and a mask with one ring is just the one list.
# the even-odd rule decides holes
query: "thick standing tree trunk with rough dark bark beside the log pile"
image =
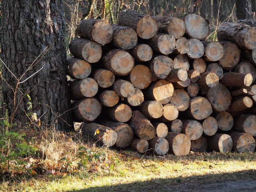
{"label": "thick standing tree trunk with rough dark bark beside the log pile", "polygon": [[[18,78],[3,67],[3,99],[10,123],[30,122],[25,113],[33,112],[46,126],[54,124],[59,130],[68,130],[73,124],[66,77],[63,2],[10,0],[3,1],[2,8],[1,58]],[[29,110],[28,102],[32,103]]]}

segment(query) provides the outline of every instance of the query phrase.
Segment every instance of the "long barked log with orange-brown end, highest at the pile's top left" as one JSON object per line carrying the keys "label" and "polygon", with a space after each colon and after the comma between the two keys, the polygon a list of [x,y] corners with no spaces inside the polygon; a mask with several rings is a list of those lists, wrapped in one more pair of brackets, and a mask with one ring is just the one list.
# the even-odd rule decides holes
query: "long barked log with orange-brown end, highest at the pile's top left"
{"label": "long barked log with orange-brown end, highest at the pile's top left", "polygon": [[158,31],[157,23],[147,15],[131,9],[126,9],[118,14],[118,25],[133,28],[142,39],[150,39]]}

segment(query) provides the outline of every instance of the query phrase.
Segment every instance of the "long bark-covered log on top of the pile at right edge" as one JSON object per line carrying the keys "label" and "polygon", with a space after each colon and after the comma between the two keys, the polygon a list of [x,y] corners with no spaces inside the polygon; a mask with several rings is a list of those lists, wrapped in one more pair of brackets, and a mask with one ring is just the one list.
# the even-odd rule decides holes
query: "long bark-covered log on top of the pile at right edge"
{"label": "long bark-covered log on top of the pile at right edge", "polygon": [[224,22],[218,28],[219,41],[231,41],[243,49],[256,49],[256,26]]}

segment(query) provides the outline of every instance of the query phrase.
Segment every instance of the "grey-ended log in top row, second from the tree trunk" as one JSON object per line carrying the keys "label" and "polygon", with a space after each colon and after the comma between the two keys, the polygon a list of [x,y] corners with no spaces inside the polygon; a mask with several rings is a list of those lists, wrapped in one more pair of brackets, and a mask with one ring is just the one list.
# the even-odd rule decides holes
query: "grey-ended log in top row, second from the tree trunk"
{"label": "grey-ended log in top row, second from the tree trunk", "polygon": [[133,49],[138,43],[137,33],[130,27],[111,24],[113,44],[119,49]]}

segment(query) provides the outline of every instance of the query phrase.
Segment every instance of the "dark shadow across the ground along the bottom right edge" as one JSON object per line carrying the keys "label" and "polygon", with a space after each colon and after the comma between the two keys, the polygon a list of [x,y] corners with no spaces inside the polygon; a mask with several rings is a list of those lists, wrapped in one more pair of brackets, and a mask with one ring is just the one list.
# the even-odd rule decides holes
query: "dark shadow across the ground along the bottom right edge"
{"label": "dark shadow across the ground along the bottom right edge", "polygon": [[[114,182],[114,181],[113,181]],[[115,182],[116,183],[116,182]],[[178,177],[166,179],[151,179],[126,184],[109,184],[109,186],[95,186],[74,192],[252,192],[256,191],[256,165],[255,169],[232,173],[205,174],[192,177]]]}

